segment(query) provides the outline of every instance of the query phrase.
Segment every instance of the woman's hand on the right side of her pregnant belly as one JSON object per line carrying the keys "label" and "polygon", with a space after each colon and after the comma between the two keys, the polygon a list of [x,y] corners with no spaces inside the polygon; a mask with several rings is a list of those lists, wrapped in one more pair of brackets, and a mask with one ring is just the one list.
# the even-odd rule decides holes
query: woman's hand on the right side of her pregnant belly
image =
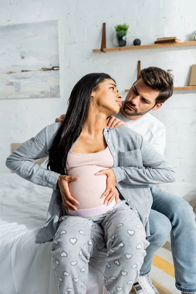
{"label": "woman's hand on the right side of her pregnant belly", "polygon": [[115,177],[113,170],[107,169],[107,170],[101,170],[101,171],[95,173],[95,175],[101,175],[101,174],[107,175],[107,187],[106,187],[105,192],[100,196],[100,198],[107,196],[104,200],[104,204],[106,204],[106,202],[107,202],[107,205],[109,205],[114,198],[116,199],[116,203],[118,203],[119,193],[116,189],[116,177]]}

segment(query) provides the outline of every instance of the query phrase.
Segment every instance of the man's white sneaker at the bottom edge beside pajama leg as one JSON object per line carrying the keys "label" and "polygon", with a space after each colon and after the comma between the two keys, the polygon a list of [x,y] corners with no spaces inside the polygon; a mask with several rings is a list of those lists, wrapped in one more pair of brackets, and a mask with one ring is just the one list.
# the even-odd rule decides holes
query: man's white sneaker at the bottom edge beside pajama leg
{"label": "man's white sneaker at the bottom edge beside pajama leg", "polygon": [[148,274],[140,276],[133,288],[137,294],[159,294]]}

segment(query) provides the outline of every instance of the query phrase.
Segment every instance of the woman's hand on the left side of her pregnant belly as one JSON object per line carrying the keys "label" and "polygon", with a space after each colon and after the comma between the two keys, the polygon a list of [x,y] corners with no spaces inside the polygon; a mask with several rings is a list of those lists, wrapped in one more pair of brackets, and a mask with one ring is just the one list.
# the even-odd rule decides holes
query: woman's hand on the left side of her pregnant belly
{"label": "woman's hand on the left side of her pregnant belly", "polygon": [[79,202],[75,198],[73,198],[73,196],[71,195],[70,189],[69,189],[69,183],[75,182],[78,179],[79,179],[78,177],[69,176],[69,175],[59,175],[58,177],[57,184],[59,186],[63,205],[66,211],[68,211],[68,209],[70,209],[73,212],[77,210],[75,203],[79,204]]}

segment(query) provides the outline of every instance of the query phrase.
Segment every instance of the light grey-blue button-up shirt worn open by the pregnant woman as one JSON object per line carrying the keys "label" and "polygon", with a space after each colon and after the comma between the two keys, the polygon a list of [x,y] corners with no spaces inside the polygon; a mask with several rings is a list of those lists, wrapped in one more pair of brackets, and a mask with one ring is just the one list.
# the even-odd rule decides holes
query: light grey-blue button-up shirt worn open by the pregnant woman
{"label": "light grey-blue button-up shirt worn open by the pregnant woman", "polygon": [[[10,170],[28,181],[53,189],[47,220],[37,234],[37,243],[53,239],[58,220],[63,215],[60,190],[56,188],[59,173],[46,170],[33,162],[48,156],[60,124],[48,125],[6,159],[6,166]],[[124,125],[113,129],[106,127],[103,134],[114,158],[112,169],[116,176],[116,187],[128,205],[138,212],[149,236],[148,216],[152,204],[149,184],[173,182],[175,172],[158,151],[140,134],[128,127]]]}

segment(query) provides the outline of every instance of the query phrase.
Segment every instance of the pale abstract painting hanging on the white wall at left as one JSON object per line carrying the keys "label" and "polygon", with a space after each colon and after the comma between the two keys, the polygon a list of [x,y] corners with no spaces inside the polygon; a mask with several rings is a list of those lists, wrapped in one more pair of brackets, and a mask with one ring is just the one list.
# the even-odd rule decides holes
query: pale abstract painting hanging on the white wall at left
{"label": "pale abstract painting hanging on the white wall at left", "polygon": [[0,99],[57,98],[58,21],[0,27]]}

